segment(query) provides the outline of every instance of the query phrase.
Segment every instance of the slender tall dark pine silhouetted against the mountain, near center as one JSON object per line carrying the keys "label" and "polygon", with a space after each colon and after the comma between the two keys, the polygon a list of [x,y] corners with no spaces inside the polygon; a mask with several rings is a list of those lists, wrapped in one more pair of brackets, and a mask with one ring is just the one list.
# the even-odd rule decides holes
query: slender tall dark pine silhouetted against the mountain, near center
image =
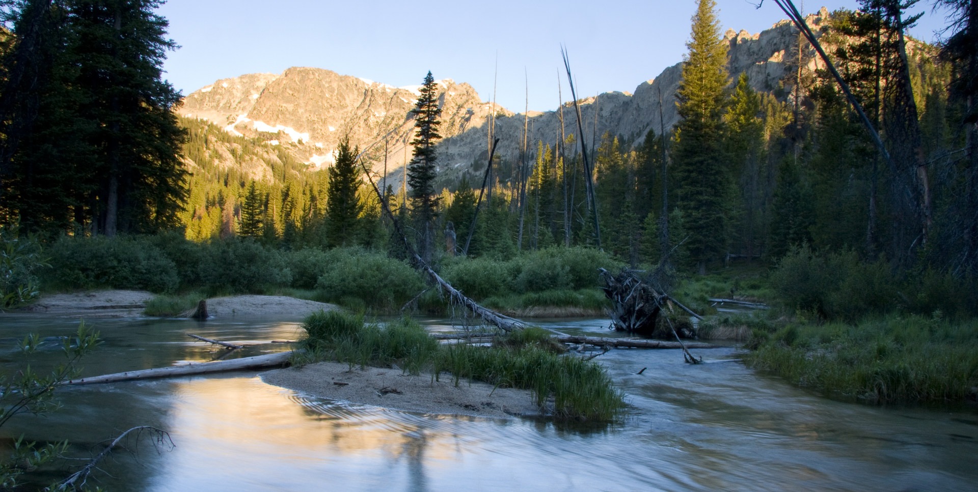
{"label": "slender tall dark pine silhouetted against the mountain, near center", "polygon": [[417,225],[418,252],[424,261],[430,261],[434,241],[433,222],[438,207],[438,195],[434,191],[437,167],[434,145],[441,139],[438,134],[437,84],[428,71],[419,90],[418,102],[411,113],[415,116],[415,140],[411,141],[414,153],[408,165],[408,184],[411,186],[412,214]]}

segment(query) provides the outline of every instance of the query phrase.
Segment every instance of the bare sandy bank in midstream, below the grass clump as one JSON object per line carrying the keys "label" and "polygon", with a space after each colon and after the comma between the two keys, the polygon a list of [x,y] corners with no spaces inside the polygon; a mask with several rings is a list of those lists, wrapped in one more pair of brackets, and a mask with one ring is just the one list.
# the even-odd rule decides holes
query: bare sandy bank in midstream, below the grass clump
{"label": "bare sandy bank in midstream, below the grass clump", "polygon": [[407,376],[400,369],[355,368],[319,362],[260,374],[262,380],[289,390],[334,400],[428,414],[511,418],[538,416],[529,390],[494,389],[463,380],[456,387],[449,375],[434,381],[430,374]]}

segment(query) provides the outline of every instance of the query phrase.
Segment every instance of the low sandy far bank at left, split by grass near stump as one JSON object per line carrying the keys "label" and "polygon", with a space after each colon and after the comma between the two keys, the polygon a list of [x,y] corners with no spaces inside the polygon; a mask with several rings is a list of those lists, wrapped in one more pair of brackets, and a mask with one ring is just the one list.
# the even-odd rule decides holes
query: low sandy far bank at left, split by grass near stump
{"label": "low sandy far bank at left, split by grass near stump", "polygon": [[[12,312],[37,312],[57,316],[135,317],[144,315],[148,303],[156,295],[137,290],[97,290],[68,294],[46,294],[35,303]],[[207,300],[207,313],[211,317],[235,317],[254,315],[305,316],[319,310],[338,308],[329,303],[319,303],[287,296],[227,296]]]}

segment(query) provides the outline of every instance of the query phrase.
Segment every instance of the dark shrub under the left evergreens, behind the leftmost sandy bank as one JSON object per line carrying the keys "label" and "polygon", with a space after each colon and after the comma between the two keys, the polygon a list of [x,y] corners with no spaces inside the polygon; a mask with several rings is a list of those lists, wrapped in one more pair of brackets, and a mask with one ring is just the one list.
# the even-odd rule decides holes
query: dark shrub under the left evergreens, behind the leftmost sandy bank
{"label": "dark shrub under the left evergreens, behind the leftmost sandy bank", "polygon": [[172,292],[177,267],[145,236],[62,237],[47,252],[45,285],[55,289],[143,289]]}

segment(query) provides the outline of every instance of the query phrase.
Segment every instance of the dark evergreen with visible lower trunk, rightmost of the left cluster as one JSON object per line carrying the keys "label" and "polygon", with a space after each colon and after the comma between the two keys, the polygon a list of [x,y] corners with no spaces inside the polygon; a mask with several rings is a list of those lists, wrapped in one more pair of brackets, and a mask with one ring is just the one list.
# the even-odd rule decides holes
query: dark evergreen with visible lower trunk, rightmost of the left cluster
{"label": "dark evergreen with visible lower trunk, rightmost of the left cluster", "polygon": [[173,106],[180,93],[162,80],[162,62],[176,43],[157,0],[72,0],[84,118],[97,124],[90,144],[98,165],[91,179],[97,230],[147,232],[176,225],[186,196],[180,164],[185,132]]}

